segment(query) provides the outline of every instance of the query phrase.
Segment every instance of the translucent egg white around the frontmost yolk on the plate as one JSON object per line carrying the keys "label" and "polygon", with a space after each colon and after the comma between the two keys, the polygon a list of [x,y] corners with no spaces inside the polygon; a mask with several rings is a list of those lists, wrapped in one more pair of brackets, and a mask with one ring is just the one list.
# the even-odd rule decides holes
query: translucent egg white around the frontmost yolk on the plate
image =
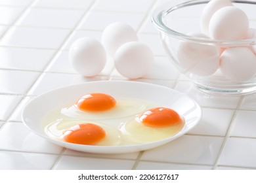
{"label": "translucent egg white around the frontmost yolk on the plate", "polygon": [[66,129],[69,129],[74,125],[87,124],[87,123],[99,125],[106,132],[106,137],[104,137],[102,141],[97,142],[95,145],[117,146],[121,143],[121,135],[116,128],[110,125],[99,123],[99,122],[92,122],[92,121],[86,121],[86,120],[58,119],[52,122],[51,124],[45,126],[45,133],[49,137],[62,141],[63,133],[64,131],[66,131]]}

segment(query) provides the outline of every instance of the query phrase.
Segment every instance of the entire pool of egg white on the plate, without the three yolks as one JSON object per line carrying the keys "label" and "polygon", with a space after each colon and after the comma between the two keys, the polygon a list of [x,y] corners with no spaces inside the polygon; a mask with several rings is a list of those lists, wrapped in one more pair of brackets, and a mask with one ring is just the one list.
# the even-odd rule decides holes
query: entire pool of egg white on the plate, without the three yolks
{"label": "entire pool of egg white on the plate, without the three yolks", "polygon": [[158,103],[131,98],[117,99],[116,107],[104,112],[84,112],[71,105],[53,110],[43,118],[41,125],[49,137],[59,141],[63,141],[66,129],[91,123],[106,131],[106,137],[95,144],[97,146],[142,144],[171,137],[184,127],[184,123],[171,127],[148,127],[138,122],[142,112],[159,106]]}

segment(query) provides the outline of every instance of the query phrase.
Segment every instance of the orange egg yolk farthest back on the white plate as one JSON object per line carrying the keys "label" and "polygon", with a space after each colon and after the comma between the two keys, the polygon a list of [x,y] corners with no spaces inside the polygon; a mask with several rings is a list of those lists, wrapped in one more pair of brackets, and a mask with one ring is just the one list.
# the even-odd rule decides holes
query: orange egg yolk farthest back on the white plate
{"label": "orange egg yolk farthest back on the white plate", "polygon": [[90,93],[81,97],[76,106],[80,110],[100,112],[109,110],[116,105],[116,99],[104,93]]}

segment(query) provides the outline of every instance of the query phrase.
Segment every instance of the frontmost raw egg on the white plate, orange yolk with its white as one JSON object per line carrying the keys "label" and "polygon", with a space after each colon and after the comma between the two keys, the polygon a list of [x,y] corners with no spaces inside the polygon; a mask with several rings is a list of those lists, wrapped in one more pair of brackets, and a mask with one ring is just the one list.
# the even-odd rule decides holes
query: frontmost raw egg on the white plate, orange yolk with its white
{"label": "frontmost raw egg on the white plate, orange yolk with its white", "polygon": [[45,127],[49,137],[75,144],[117,146],[119,131],[107,124],[72,119],[58,119]]}

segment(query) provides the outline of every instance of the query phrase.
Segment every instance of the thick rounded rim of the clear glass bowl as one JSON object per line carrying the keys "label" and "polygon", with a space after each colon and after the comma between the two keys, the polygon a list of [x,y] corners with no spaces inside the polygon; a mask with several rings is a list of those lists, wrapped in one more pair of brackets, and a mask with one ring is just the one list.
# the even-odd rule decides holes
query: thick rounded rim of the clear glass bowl
{"label": "thick rounded rim of the clear glass bowl", "polygon": [[[177,2],[177,4],[175,4]],[[165,16],[177,8],[187,7],[190,5],[198,5],[203,3],[208,3],[209,0],[190,0],[190,1],[167,1],[160,5],[154,10],[152,14],[152,23],[158,29],[158,31],[165,33],[165,35],[174,37],[176,39],[181,39],[183,41],[192,41],[202,44],[211,44],[215,46],[253,46],[256,44],[256,39],[240,39],[240,40],[217,40],[217,39],[205,39],[201,37],[192,37],[184,33],[180,33],[170,29],[164,22]],[[256,1],[247,0],[234,0],[232,3],[249,3],[256,5]]]}

